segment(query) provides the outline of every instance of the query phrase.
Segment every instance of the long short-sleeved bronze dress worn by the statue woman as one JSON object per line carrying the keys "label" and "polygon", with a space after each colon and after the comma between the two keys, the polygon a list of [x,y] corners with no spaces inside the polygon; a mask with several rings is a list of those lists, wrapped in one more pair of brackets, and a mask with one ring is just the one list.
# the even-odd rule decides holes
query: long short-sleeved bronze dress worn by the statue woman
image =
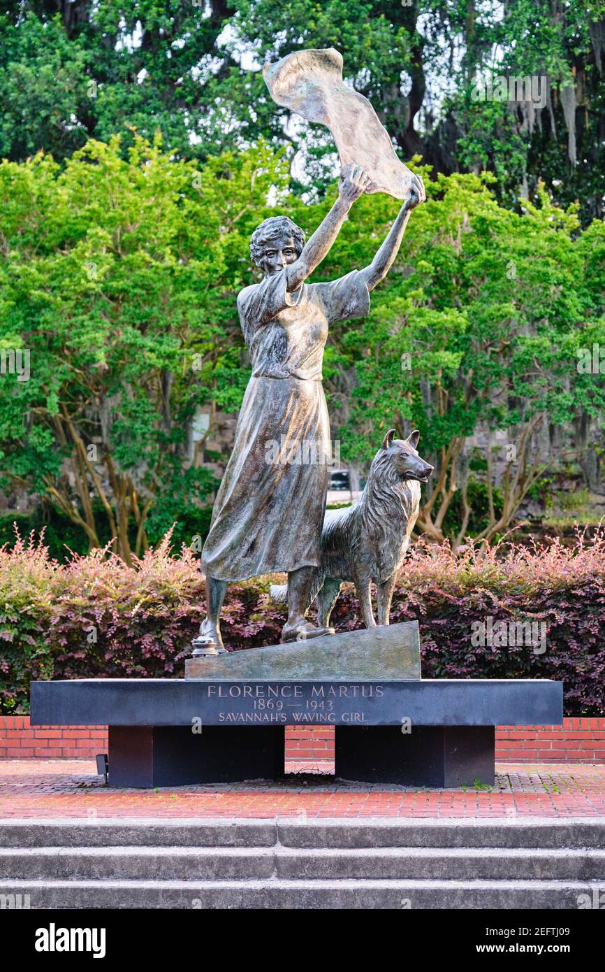
{"label": "long short-sleeved bronze dress worn by the statue woman", "polygon": [[328,325],[364,317],[357,270],[286,291],[286,269],[247,287],[238,311],[252,377],[204,544],[219,580],[319,566],[331,460],[321,364]]}

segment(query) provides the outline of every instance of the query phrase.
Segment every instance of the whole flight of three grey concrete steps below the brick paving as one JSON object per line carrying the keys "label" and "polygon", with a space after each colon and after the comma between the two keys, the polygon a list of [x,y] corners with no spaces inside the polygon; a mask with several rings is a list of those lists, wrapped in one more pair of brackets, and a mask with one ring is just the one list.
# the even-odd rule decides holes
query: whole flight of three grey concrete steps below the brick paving
{"label": "whole flight of three grey concrete steps below the brick paving", "polygon": [[1,908],[578,909],[601,897],[598,818],[0,826]]}

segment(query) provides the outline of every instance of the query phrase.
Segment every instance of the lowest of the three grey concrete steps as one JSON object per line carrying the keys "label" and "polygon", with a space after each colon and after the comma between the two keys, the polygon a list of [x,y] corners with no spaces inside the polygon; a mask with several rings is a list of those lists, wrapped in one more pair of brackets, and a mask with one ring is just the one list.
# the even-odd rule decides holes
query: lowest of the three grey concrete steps
{"label": "lowest of the three grey concrete steps", "polygon": [[[581,881],[2,881],[32,910],[207,909],[577,909],[603,886]],[[13,905],[15,907],[15,905]]]}

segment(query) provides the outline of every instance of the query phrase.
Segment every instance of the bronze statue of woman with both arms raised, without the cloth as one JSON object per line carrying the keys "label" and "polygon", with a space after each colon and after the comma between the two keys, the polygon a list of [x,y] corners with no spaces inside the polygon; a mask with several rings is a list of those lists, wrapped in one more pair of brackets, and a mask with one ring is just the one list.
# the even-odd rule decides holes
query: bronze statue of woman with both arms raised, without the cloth
{"label": "bronze statue of woman with both arms raised, without the cloth", "polygon": [[369,266],[331,283],[305,283],[368,183],[360,166],[347,166],[336,202],[307,243],[286,216],[271,217],[252,233],[252,260],[264,278],[237,300],[252,377],[202,553],[208,608],[194,654],[224,650],[219,619],[227,584],[263,573],[287,573],[283,642],[334,632],[305,618],[313,568],[319,565],[331,458],[323,348],[331,323],[368,313],[369,292],[387,276],[410,212],[424,198],[422,182],[414,177]]}

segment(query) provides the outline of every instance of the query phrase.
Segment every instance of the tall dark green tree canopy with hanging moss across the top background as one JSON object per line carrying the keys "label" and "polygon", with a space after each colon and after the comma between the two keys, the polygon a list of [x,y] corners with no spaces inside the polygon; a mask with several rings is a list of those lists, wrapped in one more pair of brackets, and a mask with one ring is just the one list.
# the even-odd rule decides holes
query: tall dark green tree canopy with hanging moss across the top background
{"label": "tall dark green tree canopy with hanging moss across the top background", "polygon": [[[7,0],[0,36],[0,156],[15,161],[158,130],[204,160],[263,136],[302,150],[320,197],[325,129],[285,126],[260,68],[333,46],[404,159],[492,171],[518,211],[542,180],[562,208],[580,200],[583,225],[603,215],[605,0]],[[543,78],[546,101],[477,100],[479,76]]]}

